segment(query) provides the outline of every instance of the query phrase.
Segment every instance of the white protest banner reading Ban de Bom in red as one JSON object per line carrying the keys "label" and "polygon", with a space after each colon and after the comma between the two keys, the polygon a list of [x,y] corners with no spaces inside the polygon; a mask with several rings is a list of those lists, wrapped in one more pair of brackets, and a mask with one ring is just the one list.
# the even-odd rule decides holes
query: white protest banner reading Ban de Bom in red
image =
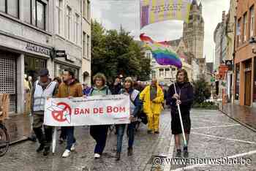
{"label": "white protest banner reading Ban de Bom in red", "polygon": [[84,126],[129,123],[129,96],[50,98],[45,102],[44,124]]}

